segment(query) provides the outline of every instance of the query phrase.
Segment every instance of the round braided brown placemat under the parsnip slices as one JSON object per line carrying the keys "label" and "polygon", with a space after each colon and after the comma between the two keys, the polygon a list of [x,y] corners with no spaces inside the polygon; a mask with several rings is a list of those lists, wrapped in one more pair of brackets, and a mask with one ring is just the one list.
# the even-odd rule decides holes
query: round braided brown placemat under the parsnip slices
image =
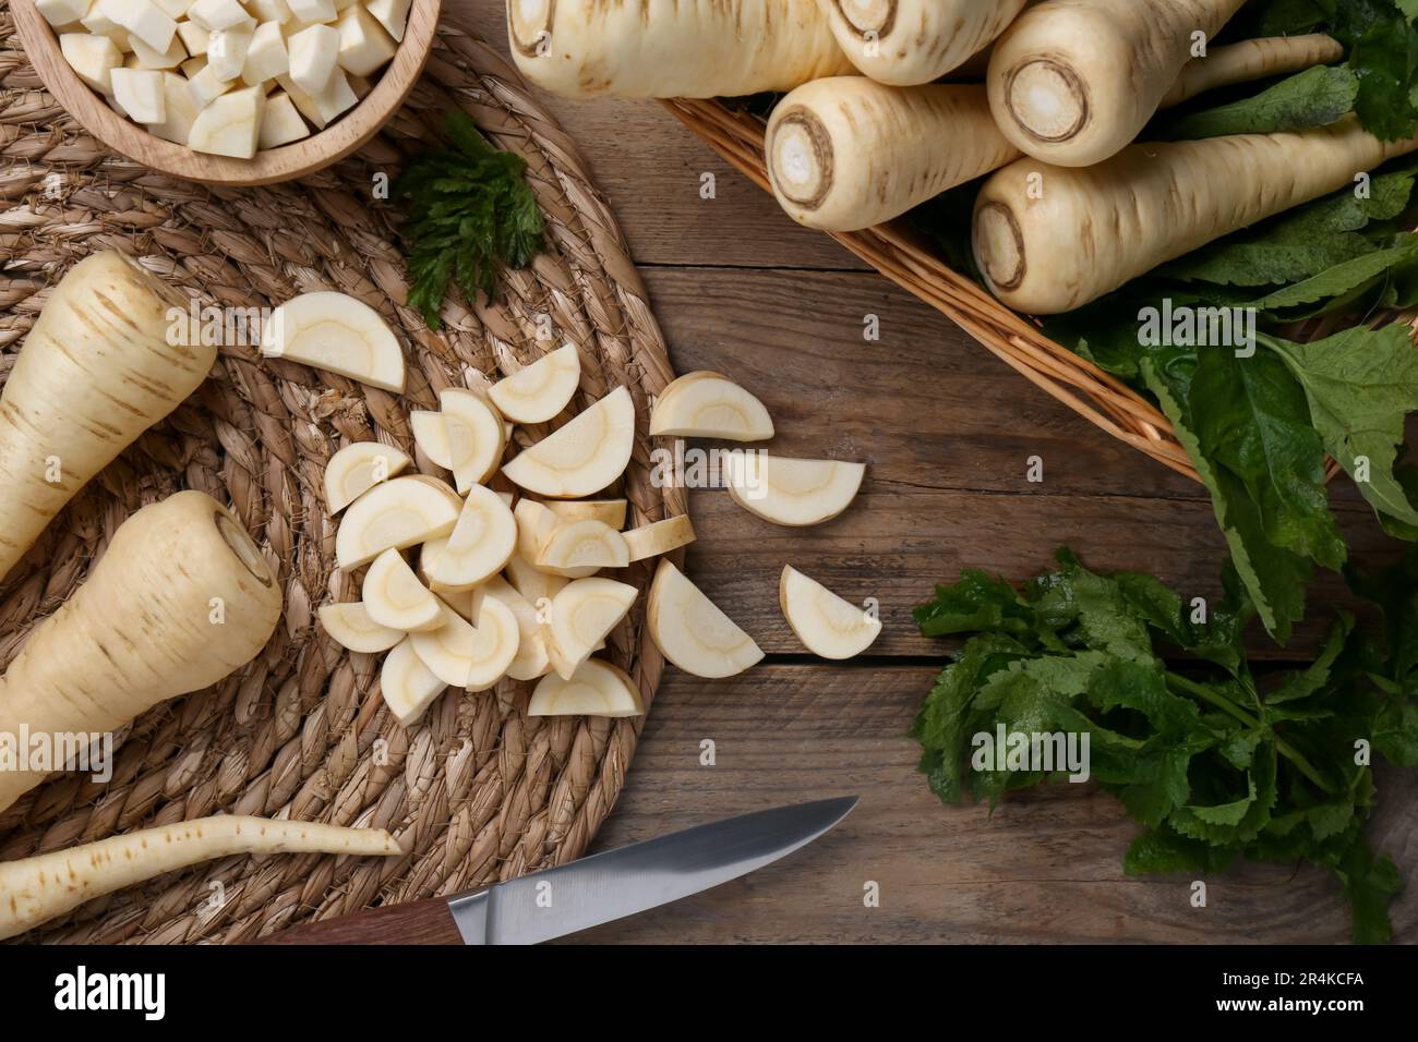
{"label": "round braided brown placemat under the parsnip slices", "polygon": [[[347,655],[313,625],[318,605],[359,598],[333,568],[320,485],[330,455],[372,438],[411,454],[410,410],[437,407],[442,387],[475,387],[539,357],[547,319],[554,344],[581,349],[581,405],[617,384],[635,398],[637,449],[618,492],[632,523],[683,513],[681,491],[649,481],[649,396],[672,379],[664,340],[571,140],[495,51],[448,24],[406,108],[362,153],[267,189],[208,190],[108,153],[26,64],[7,4],[0,88],[0,377],[48,288],[96,250],[138,258],[204,305],[350,293],[400,333],[408,363],[408,391],[393,396],[224,349],[197,394],[55,519],[0,587],[0,663],[84,581],[128,515],[182,488],[208,492],[245,522],[279,568],[285,620],[250,668],[118,736],[106,785],[57,775],[0,814],[0,859],[220,812],[387,828],[408,853],[228,858],[92,902],[23,940],[241,941],[577,858],[615,802],[638,720],[527,717],[530,685],[508,682],[448,692],[406,730],[379,695],[379,658]],[[496,302],[450,306],[434,333],[403,303],[397,211],[374,186],[435,138],[454,105],[527,160],[547,252],[510,272]],[[627,570],[641,588],[648,578],[645,566]],[[605,654],[648,702],[662,661],[642,621],[644,598]]]}

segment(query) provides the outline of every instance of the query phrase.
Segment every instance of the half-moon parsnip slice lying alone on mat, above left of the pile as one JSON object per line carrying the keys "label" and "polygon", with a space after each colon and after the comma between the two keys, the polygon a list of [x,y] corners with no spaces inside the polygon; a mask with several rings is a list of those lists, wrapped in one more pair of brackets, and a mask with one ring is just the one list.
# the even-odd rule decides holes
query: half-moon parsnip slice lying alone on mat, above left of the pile
{"label": "half-moon parsnip slice lying alone on mat, above left of the pile", "polygon": [[303,362],[386,391],[404,390],[404,353],[398,340],[377,310],[345,293],[302,293],[282,303],[262,330],[261,353]]}

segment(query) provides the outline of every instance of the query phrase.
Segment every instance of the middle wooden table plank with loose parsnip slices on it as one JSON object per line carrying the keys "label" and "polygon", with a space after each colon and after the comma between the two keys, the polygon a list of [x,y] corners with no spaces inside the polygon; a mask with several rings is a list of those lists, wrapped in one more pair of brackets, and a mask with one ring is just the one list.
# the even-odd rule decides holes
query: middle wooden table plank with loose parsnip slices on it
{"label": "middle wooden table plank with loose parsnip slices on it", "polygon": [[[764,651],[801,654],[778,610],[784,564],[837,593],[881,603],[873,655],[934,655],[910,608],[960,568],[1021,583],[1072,546],[1098,568],[1157,573],[1187,597],[1219,594],[1225,544],[1205,491],[1082,421],[883,279],[855,272],[651,269],[647,284],[675,370],[712,369],[757,394],[774,417],[770,452],[859,459],[856,502],[811,529],[784,529],[727,495],[691,499],[695,580]],[[882,339],[862,339],[876,315]],[[708,442],[705,442],[708,444]],[[1041,482],[1028,479],[1031,456]],[[1347,478],[1334,482],[1357,560],[1387,539]],[[1330,612],[1353,607],[1324,573],[1310,620],[1288,649],[1255,629],[1261,656],[1316,646]]]}

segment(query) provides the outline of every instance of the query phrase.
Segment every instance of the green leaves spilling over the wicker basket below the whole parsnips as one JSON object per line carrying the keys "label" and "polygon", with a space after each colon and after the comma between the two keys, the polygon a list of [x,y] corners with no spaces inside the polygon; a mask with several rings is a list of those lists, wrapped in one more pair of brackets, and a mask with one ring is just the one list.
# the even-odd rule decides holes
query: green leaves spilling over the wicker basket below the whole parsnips
{"label": "green leaves spilling over the wicker basket below the whole parsnips", "polygon": [[[1324,456],[1358,485],[1391,534],[1418,537],[1418,472],[1402,464],[1418,410],[1412,330],[1360,323],[1297,343],[1296,323],[1418,305],[1418,235],[1400,215],[1414,194],[1408,162],[1219,240],[1045,330],[1151,394],[1211,492],[1239,576],[1282,644],[1305,614],[1314,566],[1343,567]],[[1248,309],[1255,354],[1228,346],[1143,343],[1139,318],[1167,303]]]}

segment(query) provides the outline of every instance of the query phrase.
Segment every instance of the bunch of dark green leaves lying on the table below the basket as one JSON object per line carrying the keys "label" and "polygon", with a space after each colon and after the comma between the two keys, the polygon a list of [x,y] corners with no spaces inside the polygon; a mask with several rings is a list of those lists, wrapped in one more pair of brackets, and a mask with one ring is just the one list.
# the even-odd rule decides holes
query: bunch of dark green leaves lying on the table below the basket
{"label": "bunch of dark green leaves lying on the table below the basket", "polygon": [[[1418,553],[1377,576],[1350,573],[1383,612],[1383,635],[1340,615],[1313,663],[1263,678],[1246,662],[1254,607],[1231,568],[1201,618],[1151,576],[1098,574],[1066,550],[1058,564],[1021,591],[966,571],[916,610],[927,637],[968,635],[912,730],[932,790],[993,805],[1049,780],[973,770],[976,734],[1088,734],[1092,777],[1144,827],[1126,872],[1307,861],[1343,885],[1354,940],[1387,941],[1402,880],[1364,841],[1367,753],[1418,764]],[[1170,668],[1161,648],[1195,668]]]}

